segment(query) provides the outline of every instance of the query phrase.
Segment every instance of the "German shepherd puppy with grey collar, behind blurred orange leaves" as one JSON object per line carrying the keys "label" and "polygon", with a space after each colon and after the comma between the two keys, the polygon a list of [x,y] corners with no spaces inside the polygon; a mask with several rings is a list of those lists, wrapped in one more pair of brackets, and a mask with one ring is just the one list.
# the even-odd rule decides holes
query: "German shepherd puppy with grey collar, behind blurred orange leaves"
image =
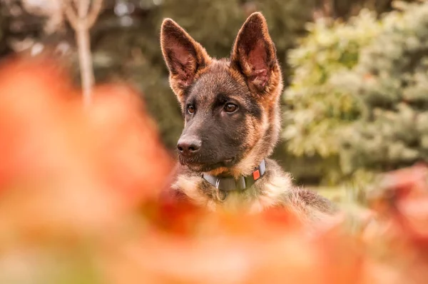
{"label": "German shepherd puppy with grey collar, behind blurred orange leaves", "polygon": [[280,133],[282,73],[262,14],[245,21],[230,59],[208,56],[172,19],[163,21],[161,49],[185,121],[175,196],[212,211],[280,206],[306,220],[335,211],[267,158]]}

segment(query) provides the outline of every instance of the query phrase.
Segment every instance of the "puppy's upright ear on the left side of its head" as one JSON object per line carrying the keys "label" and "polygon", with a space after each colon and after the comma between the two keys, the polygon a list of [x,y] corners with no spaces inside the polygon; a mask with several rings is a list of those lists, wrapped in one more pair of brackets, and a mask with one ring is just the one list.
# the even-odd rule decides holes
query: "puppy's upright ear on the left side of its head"
{"label": "puppy's upright ear on the left side of its head", "polygon": [[211,59],[203,47],[172,19],[163,20],[161,49],[170,73],[170,86],[183,102],[183,93]]}

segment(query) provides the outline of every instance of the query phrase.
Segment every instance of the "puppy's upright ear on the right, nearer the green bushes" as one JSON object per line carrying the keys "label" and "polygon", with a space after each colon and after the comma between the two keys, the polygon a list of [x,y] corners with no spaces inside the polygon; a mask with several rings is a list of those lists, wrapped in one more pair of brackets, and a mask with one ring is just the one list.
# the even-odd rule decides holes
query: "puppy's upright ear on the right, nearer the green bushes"
{"label": "puppy's upright ear on the right, nearer the green bushes", "polygon": [[277,64],[276,49],[265,17],[251,14],[240,29],[232,51],[232,63],[258,91],[264,91]]}

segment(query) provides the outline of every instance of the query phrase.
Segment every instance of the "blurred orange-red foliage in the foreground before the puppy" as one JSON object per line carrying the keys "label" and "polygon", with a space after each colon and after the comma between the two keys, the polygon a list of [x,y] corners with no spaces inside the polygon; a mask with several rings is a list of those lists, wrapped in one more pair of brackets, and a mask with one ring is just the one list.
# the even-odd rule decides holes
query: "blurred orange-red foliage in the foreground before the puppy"
{"label": "blurred orange-red foliage in the foreground before the puppy", "polygon": [[[0,70],[0,283],[428,283],[424,167],[387,176],[376,223],[157,198],[171,161],[132,91],[83,109],[55,65]],[[406,172],[407,171],[407,172]]]}

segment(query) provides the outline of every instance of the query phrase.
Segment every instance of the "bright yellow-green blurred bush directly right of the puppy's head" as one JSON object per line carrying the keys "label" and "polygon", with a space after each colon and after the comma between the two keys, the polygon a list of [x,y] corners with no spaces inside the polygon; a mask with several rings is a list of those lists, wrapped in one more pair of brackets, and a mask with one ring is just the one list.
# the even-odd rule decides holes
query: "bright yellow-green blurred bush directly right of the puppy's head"
{"label": "bright yellow-green blurred bush directly right of the puppy's head", "polygon": [[362,47],[379,34],[376,15],[362,10],[349,21],[320,19],[289,53],[293,76],[284,93],[285,147],[291,155],[309,161],[319,157],[325,183],[337,183],[340,131],[360,115],[357,100],[332,85],[332,75],[350,70]]}

